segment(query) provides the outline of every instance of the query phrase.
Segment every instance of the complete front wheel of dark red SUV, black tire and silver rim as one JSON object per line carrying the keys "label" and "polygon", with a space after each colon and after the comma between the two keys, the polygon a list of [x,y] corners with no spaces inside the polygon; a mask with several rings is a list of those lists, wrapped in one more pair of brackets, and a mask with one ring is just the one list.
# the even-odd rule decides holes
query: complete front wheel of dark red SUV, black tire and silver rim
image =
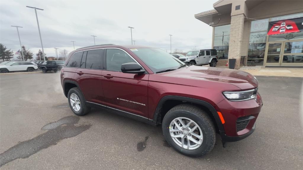
{"label": "complete front wheel of dark red SUV, black tire and silver rim", "polygon": [[165,114],[163,135],[175,150],[191,157],[207,154],[215,145],[215,126],[208,114],[197,106],[181,104]]}

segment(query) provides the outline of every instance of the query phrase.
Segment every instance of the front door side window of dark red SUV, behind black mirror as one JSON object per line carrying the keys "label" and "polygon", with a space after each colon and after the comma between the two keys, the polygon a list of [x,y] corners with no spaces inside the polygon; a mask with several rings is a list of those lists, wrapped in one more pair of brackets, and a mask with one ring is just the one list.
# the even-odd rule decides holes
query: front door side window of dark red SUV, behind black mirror
{"label": "front door side window of dark red SUV, behind black mirror", "polygon": [[121,71],[121,64],[131,63],[131,62],[135,62],[135,61],[122,50],[118,50],[118,49],[106,50],[106,70]]}

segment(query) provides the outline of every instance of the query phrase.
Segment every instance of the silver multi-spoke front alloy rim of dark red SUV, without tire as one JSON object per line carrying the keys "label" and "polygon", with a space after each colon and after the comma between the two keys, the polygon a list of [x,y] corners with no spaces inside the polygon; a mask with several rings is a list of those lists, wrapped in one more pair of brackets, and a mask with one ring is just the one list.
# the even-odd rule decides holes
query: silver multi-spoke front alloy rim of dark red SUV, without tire
{"label": "silver multi-spoke front alloy rim of dark red SUV, without tire", "polygon": [[201,128],[193,120],[185,117],[172,120],[169,125],[169,133],[173,141],[184,149],[197,149],[203,142]]}

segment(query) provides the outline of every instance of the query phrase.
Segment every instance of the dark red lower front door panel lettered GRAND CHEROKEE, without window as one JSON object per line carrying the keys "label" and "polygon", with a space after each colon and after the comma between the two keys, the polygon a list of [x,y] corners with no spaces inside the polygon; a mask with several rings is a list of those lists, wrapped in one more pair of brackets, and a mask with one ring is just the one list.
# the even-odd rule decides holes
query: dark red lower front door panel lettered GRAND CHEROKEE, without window
{"label": "dark red lower front door panel lettered GRAND CHEROKEE, without window", "polygon": [[128,74],[103,70],[103,104],[147,117],[148,74]]}

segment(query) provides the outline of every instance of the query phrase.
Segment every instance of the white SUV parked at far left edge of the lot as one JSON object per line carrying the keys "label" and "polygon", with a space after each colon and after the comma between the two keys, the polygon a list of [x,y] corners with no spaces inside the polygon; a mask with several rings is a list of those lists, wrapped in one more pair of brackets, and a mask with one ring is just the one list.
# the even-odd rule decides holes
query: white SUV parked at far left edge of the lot
{"label": "white SUV parked at far left edge of the lot", "polygon": [[8,73],[10,71],[34,71],[37,70],[37,64],[30,62],[30,61],[16,61],[16,62],[9,62],[5,65],[0,65],[0,72],[1,73]]}

